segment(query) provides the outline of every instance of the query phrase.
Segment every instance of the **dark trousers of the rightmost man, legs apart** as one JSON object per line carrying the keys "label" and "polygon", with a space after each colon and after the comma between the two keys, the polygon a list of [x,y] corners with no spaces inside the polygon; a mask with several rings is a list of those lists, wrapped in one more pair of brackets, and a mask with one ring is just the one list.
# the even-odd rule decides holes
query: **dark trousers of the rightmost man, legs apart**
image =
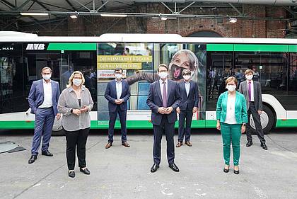
{"label": "dark trousers of the rightmost man, legs apart", "polygon": [[264,132],[263,132],[261,121],[260,121],[260,115],[255,108],[255,103],[250,103],[250,108],[248,109],[248,125],[247,125],[247,130],[246,130],[247,140],[249,142],[252,142],[252,127],[250,126],[250,115],[252,115],[252,118],[254,119],[257,136],[258,136],[260,142],[265,143]]}

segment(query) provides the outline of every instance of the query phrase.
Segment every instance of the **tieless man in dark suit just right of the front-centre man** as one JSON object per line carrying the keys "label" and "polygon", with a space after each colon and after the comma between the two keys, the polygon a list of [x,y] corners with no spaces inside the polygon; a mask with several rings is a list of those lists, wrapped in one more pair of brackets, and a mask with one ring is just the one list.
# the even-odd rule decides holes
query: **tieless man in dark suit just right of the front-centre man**
{"label": "tieless man in dark suit just right of the front-centre man", "polygon": [[197,83],[190,80],[191,71],[189,69],[183,70],[182,76],[184,81],[181,81],[178,84],[180,96],[182,96],[182,103],[180,103],[180,106],[176,109],[176,112],[180,114],[180,118],[178,120],[178,142],[176,147],[182,146],[184,136],[185,144],[192,147],[192,143],[190,142],[192,117],[193,113],[198,111],[199,93]]}

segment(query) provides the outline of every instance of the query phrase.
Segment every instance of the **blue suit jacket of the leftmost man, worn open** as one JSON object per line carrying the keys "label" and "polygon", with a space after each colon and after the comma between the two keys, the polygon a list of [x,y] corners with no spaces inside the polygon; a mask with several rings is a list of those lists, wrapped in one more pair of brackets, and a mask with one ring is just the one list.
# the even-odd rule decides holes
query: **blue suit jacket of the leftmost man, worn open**
{"label": "blue suit jacket of the leftmost man, worn open", "polygon": [[[57,104],[60,96],[60,87],[57,81],[51,80],[52,84],[52,108],[54,109],[54,115],[57,115]],[[43,91],[43,81],[42,79],[33,81],[31,86],[28,102],[31,108],[31,113],[35,114],[38,106],[42,105],[45,98],[45,92]]]}

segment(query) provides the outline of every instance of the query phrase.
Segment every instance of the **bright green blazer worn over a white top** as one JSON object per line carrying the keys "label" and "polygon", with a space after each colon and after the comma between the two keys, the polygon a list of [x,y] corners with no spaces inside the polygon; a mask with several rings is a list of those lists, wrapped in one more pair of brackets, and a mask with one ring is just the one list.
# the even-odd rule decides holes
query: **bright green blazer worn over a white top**
{"label": "bright green blazer worn over a white top", "polygon": [[[228,91],[221,93],[216,103],[216,120],[223,123],[226,120]],[[248,123],[247,103],[245,96],[236,91],[235,120],[238,124]]]}

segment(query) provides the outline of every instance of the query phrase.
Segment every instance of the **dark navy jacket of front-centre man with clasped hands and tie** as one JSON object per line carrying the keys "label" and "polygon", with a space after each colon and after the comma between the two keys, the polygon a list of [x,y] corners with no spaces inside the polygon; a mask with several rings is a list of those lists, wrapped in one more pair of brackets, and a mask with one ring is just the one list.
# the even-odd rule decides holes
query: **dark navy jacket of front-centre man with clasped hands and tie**
{"label": "dark navy jacket of front-centre man with clasped hands and tie", "polygon": [[[175,110],[182,101],[182,98],[180,97],[180,89],[178,89],[178,85],[175,81],[168,79],[167,93],[167,106],[173,108],[173,111],[167,115],[168,123],[175,123],[177,120]],[[158,108],[162,107],[163,103],[159,81],[155,81],[149,86],[146,103],[148,107],[151,108],[151,122],[153,125],[160,125],[163,114],[158,113]]]}

